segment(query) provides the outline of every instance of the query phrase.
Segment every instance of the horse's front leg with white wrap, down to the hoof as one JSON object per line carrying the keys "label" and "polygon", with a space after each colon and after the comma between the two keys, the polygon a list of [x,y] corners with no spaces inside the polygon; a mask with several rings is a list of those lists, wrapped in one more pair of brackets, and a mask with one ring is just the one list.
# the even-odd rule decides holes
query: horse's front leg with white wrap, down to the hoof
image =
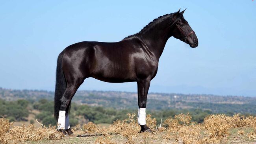
{"label": "horse's front leg with white wrap, down to the hoof", "polygon": [[141,126],[140,132],[151,132],[150,128],[146,125],[146,104],[148,89],[150,86],[149,79],[137,81],[138,85],[138,123]]}

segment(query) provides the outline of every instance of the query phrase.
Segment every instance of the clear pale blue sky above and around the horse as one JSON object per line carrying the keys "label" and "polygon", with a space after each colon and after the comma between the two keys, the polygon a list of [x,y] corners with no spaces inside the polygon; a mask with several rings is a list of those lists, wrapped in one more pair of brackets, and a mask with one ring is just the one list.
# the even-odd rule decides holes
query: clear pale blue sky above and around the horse
{"label": "clear pale blue sky above and around the horse", "polygon": [[[149,92],[256,96],[256,1],[24,0],[0,2],[0,87],[54,90],[58,54],[80,41],[117,42],[178,9],[198,37],[171,37]],[[85,79],[79,90],[136,92]]]}

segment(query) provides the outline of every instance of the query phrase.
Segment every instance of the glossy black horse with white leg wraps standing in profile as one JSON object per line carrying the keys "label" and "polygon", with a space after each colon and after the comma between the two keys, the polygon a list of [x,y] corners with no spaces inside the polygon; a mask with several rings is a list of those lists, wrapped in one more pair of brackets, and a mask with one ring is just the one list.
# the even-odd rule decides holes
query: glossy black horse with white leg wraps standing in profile
{"label": "glossy black horse with white leg wraps standing in profile", "polygon": [[83,41],[65,48],[56,68],[54,116],[58,130],[64,135],[73,133],[69,126],[70,102],[83,81],[92,77],[109,83],[137,82],[140,132],[151,132],[145,120],[147,94],[167,40],[173,36],[191,48],[198,46],[184,11],[160,16],[119,42]]}

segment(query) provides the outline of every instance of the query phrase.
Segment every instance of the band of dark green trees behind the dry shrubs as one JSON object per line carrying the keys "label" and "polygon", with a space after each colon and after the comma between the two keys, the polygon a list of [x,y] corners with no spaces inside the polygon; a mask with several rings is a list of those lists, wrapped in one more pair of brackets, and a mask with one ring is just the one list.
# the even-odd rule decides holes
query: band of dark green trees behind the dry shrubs
{"label": "band of dark green trees behind the dry shrubs", "polygon": [[[222,107],[218,108],[221,109]],[[228,106],[225,105],[224,109],[228,109]],[[33,113],[33,110],[37,110],[39,113]],[[70,112],[70,126],[75,126],[79,123],[79,119],[81,118],[87,120],[87,122],[94,122],[95,124],[111,124],[115,120],[124,120],[127,113],[137,113],[137,109],[114,109],[111,107],[93,107],[89,105],[78,105],[76,103],[72,103]],[[56,121],[53,116],[53,101],[41,99],[39,101],[16,100],[9,102],[0,99],[1,117],[6,117],[10,121],[26,121],[30,113],[34,114],[35,118],[46,126],[49,124],[56,125]],[[212,111],[203,109],[147,109],[147,114],[151,114],[153,118],[156,118],[158,123],[161,122],[161,119],[165,120],[169,116],[175,116],[180,113],[189,113],[192,116],[192,120],[198,123],[202,123],[206,116],[213,114]],[[234,112],[228,111],[224,114],[231,116],[234,114]],[[251,113],[243,114],[249,115]]]}

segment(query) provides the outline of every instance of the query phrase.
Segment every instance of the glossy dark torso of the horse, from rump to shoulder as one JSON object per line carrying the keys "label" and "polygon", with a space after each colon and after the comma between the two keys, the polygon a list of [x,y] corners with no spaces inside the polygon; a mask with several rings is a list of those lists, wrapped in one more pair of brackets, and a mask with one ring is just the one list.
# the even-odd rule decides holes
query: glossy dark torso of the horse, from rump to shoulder
{"label": "glossy dark torso of the horse, from rump to shoulder", "polygon": [[135,40],[78,42],[65,49],[63,71],[70,75],[113,83],[136,81],[138,76],[152,75],[157,68],[152,66],[152,59],[144,49]]}

